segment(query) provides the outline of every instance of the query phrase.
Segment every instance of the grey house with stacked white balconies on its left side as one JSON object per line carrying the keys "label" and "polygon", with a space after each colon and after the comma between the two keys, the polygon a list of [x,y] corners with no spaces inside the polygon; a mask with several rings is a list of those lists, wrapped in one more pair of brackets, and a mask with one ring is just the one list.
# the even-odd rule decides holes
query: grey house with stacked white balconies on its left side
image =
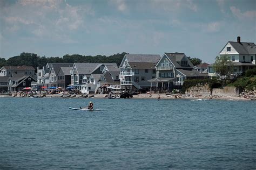
{"label": "grey house with stacked white balconies on its left side", "polygon": [[122,90],[150,89],[147,80],[156,77],[156,63],[160,55],[155,54],[125,54],[120,64],[120,86]]}

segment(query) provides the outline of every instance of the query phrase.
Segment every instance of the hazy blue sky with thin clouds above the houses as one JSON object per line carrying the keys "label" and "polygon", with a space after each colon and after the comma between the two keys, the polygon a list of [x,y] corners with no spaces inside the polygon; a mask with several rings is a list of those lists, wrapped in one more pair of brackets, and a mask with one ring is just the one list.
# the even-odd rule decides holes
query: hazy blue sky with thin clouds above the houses
{"label": "hazy blue sky with thin clouds above the houses", "polygon": [[256,43],[255,0],[0,0],[0,58],[185,53]]}

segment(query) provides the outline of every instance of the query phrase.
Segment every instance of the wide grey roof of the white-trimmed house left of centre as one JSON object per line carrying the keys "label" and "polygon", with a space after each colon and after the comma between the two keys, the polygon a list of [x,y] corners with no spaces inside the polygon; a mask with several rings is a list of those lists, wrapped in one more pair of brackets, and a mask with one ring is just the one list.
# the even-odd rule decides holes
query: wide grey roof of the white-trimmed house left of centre
{"label": "wide grey roof of the white-trimmed house left of centre", "polygon": [[93,62],[76,62],[74,65],[77,68],[78,74],[91,74],[92,71],[99,65],[100,63]]}

